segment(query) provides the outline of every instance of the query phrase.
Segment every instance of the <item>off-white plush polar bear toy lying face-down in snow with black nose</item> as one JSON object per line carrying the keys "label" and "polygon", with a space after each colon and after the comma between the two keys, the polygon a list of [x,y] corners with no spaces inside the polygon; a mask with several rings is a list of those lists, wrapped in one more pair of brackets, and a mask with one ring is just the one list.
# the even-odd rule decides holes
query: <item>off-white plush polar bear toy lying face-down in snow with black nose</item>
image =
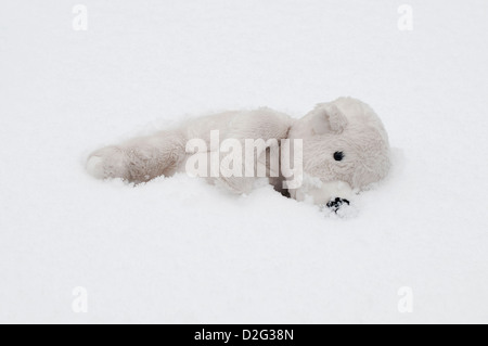
{"label": "off-white plush polar bear toy lying face-down in snow with black nose", "polygon": [[[220,152],[223,143],[213,143],[216,136],[219,141],[232,140],[234,145],[245,146],[249,140],[260,140],[262,145],[253,148],[251,158],[232,159],[229,169],[242,175],[222,175],[218,170],[226,159]],[[270,156],[277,150],[279,159],[272,165]],[[246,194],[259,178],[256,172],[261,164],[266,179],[277,191],[337,212],[350,204],[356,193],[386,177],[389,150],[388,136],[374,111],[359,100],[341,98],[317,105],[301,119],[269,108],[193,119],[171,130],[101,149],[89,156],[87,169],[99,179],[141,183],[160,176],[190,174],[195,163],[208,166],[215,155],[217,166],[198,167],[200,175],[190,175],[205,177],[232,193]],[[254,175],[244,174],[249,163],[255,164]]]}

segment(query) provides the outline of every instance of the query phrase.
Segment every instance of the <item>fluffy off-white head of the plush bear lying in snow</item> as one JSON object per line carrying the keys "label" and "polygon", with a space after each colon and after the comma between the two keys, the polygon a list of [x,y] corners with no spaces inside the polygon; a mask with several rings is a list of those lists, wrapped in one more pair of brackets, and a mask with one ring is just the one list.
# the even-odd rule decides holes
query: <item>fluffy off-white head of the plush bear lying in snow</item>
{"label": "fluffy off-white head of the plush bear lying in snow", "polygon": [[[386,177],[390,168],[388,134],[365,103],[341,98],[322,103],[297,120],[290,139],[303,139],[303,187],[293,197],[317,204],[344,197],[342,191],[363,190]],[[347,194],[347,192],[344,192]]]}

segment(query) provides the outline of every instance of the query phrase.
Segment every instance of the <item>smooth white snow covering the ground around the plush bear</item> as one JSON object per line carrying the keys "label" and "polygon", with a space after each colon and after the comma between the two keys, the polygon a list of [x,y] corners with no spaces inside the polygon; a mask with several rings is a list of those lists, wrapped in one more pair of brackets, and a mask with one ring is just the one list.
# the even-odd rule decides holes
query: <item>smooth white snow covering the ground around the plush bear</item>
{"label": "smooth white snow covering the ground around the plush bear", "polygon": [[[85,0],[75,31],[75,2],[1,1],[0,322],[488,322],[488,2],[409,0],[400,31],[403,2]],[[189,115],[341,95],[394,146],[352,217],[85,170]]]}

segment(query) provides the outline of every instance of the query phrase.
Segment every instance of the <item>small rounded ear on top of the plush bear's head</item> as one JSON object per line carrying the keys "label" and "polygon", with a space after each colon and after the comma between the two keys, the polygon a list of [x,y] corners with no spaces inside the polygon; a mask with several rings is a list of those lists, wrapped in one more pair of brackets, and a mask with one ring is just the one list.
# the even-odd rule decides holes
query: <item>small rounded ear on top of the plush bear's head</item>
{"label": "small rounded ear on top of the plush bear's head", "polygon": [[341,134],[349,124],[344,113],[332,103],[317,105],[311,121],[314,134]]}

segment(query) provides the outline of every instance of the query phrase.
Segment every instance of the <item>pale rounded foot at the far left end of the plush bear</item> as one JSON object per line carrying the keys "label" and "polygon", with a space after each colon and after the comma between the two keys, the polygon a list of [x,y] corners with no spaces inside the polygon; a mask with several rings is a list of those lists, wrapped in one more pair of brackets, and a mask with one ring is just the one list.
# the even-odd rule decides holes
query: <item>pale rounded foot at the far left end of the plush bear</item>
{"label": "pale rounded foot at the far left end of the plush bear", "polygon": [[90,155],[87,162],[88,172],[98,179],[127,179],[126,155],[117,146],[107,146]]}

